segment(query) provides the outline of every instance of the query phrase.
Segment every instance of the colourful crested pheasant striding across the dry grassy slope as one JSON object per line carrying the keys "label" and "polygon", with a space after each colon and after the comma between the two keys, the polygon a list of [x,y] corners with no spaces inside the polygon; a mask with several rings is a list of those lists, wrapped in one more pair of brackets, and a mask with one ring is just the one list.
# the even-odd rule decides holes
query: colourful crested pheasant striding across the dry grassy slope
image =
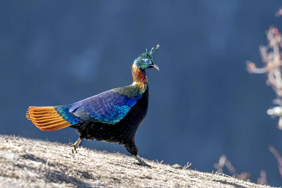
{"label": "colourful crested pheasant striding across the dry grassy slope", "polygon": [[139,165],[151,168],[138,155],[135,134],[148,112],[149,83],[145,70],[159,70],[152,55],[158,49],[159,44],[149,52],[146,49],[133,61],[131,85],[104,91],[68,105],[30,106],[26,117],[43,131],[75,128],[79,138],[70,146],[72,154],[77,153],[76,149],[83,139],[118,143],[125,146]]}

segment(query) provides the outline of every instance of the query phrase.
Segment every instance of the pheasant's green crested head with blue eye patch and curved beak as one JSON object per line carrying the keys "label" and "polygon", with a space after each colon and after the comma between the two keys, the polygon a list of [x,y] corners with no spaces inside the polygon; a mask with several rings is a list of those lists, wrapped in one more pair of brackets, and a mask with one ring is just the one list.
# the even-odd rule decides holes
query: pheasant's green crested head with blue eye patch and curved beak
{"label": "pheasant's green crested head with blue eye patch and curved beak", "polygon": [[146,48],[146,53],[139,55],[139,57],[134,60],[134,63],[142,70],[148,68],[155,68],[159,70],[159,67],[153,62],[153,55],[152,55],[158,49],[159,49],[159,44],[157,45],[155,50],[154,48],[152,48],[151,51],[149,51],[149,53],[147,52],[147,48]]}

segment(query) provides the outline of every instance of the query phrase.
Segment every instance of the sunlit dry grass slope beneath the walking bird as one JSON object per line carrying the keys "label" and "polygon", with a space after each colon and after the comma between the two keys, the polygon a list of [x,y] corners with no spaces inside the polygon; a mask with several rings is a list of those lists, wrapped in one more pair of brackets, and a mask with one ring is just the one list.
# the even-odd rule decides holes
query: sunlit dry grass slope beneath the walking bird
{"label": "sunlit dry grass slope beneath the walking bird", "polygon": [[118,153],[77,151],[73,156],[65,144],[0,135],[0,187],[270,188],[154,161],[146,161],[149,169]]}

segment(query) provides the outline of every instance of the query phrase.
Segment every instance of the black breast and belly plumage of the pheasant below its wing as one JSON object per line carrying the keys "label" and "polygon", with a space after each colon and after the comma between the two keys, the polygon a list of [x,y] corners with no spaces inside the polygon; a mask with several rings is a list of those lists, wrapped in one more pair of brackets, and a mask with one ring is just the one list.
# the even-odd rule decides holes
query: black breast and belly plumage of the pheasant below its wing
{"label": "black breast and belly plumage of the pheasant below its wing", "polygon": [[148,110],[149,86],[141,99],[129,110],[128,114],[116,124],[88,122],[73,125],[81,139],[118,142],[120,145],[132,142],[138,127],[143,123]]}

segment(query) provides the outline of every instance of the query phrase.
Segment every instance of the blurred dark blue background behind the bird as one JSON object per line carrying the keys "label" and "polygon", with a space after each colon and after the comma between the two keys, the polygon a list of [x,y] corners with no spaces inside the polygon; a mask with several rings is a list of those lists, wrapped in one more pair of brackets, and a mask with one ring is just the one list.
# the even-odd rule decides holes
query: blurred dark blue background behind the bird
{"label": "blurred dark blue background behind the bird", "polygon": [[[149,112],[136,134],[139,155],[211,172],[222,154],[256,182],[265,170],[281,186],[277,160],[282,131],[266,110],[275,93],[260,63],[281,1],[1,1],[1,134],[75,142],[76,131],[40,131],[29,106],[69,104],[132,83],[131,65],[160,44],[147,70]],[[262,64],[261,64],[262,65]],[[85,147],[127,153],[123,146]],[[227,169],[224,172],[228,174]]]}

